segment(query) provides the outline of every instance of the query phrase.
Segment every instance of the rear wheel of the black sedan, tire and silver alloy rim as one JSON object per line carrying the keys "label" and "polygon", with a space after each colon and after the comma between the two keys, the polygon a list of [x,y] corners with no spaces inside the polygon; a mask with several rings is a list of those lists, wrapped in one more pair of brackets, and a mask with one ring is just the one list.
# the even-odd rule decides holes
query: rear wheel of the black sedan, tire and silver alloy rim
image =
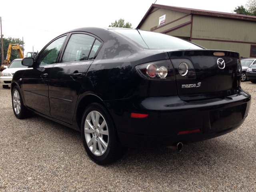
{"label": "rear wheel of the black sedan, tire and silver alloy rim", "polygon": [[109,113],[98,103],[90,104],[84,111],[81,136],[88,156],[99,165],[115,162],[124,154]]}

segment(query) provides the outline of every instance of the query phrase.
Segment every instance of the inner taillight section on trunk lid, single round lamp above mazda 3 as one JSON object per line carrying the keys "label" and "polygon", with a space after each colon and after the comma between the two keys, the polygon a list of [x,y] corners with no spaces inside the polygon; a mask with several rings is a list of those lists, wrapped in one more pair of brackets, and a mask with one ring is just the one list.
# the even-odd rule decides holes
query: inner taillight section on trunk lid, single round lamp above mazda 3
{"label": "inner taillight section on trunk lid, single round lamp above mazda 3", "polygon": [[171,60],[176,79],[194,79],[196,78],[196,71],[192,62],[188,59],[172,59]]}

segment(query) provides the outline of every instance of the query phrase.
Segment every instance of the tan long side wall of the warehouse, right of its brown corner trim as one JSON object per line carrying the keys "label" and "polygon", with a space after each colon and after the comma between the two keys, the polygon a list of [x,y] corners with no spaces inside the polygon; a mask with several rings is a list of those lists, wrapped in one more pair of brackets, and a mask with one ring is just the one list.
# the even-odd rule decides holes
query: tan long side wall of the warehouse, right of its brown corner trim
{"label": "tan long side wall of the warehouse, right of its brown corner trim", "polygon": [[[249,58],[251,44],[240,42],[256,42],[255,34],[256,22],[253,21],[198,15],[193,17],[192,42],[207,49],[231,50]],[[238,42],[194,40],[193,38]]]}

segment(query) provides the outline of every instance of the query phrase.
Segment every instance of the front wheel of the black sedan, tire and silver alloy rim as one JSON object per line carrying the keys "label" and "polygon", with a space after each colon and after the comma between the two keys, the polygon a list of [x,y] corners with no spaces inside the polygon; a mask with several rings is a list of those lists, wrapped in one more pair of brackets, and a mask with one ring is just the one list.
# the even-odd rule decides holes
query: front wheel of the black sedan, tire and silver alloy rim
{"label": "front wheel of the black sedan, tire and silver alloy rim", "polygon": [[24,119],[31,115],[31,111],[26,108],[23,104],[23,100],[20,94],[20,89],[18,86],[14,86],[12,90],[12,109],[14,115],[18,119]]}

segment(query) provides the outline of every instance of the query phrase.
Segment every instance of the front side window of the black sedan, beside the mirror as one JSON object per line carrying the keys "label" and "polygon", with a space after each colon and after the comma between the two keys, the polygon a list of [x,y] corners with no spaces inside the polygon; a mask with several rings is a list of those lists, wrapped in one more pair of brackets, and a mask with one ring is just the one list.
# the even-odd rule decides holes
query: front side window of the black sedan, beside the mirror
{"label": "front side window of the black sedan, beside the mirror", "polygon": [[60,48],[65,40],[66,36],[54,40],[50,45],[48,45],[39,55],[37,59],[37,64],[48,65],[56,63],[58,55],[60,53]]}

